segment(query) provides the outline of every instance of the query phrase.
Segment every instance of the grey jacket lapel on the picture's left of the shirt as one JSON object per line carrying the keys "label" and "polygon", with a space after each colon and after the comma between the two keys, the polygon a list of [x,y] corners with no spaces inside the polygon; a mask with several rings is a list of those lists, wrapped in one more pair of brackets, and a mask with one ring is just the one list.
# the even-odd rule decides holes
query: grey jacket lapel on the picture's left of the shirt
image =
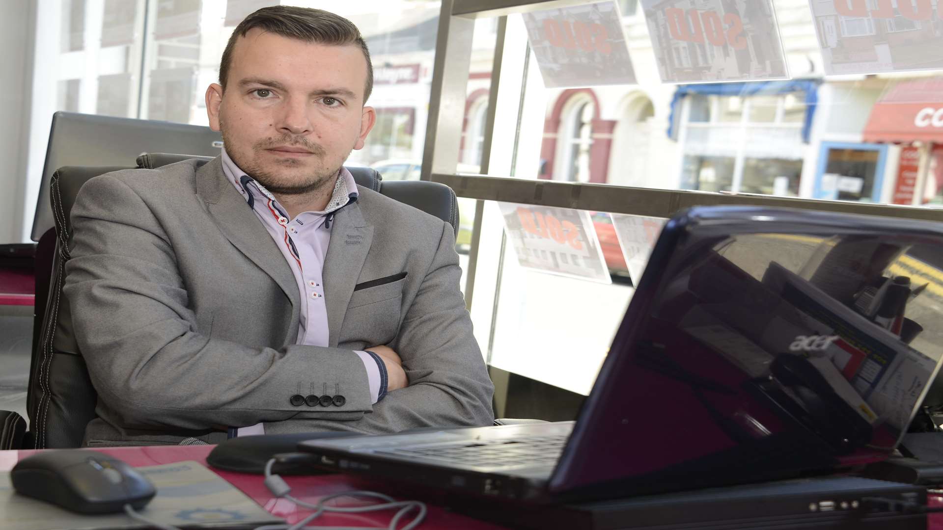
{"label": "grey jacket lapel on the picture's left of the shirt", "polygon": [[196,171],[196,190],[207,203],[207,210],[223,236],[259,269],[272,276],[289,298],[292,319],[287,340],[293,343],[298,334],[301,303],[294,273],[256,212],[226,179],[221,157],[213,158]]}

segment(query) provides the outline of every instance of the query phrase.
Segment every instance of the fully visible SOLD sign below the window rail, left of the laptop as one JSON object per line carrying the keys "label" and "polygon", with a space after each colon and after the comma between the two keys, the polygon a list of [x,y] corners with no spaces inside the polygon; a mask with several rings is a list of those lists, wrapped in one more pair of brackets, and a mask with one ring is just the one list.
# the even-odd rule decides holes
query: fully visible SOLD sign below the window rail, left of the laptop
{"label": "fully visible SOLD sign below the window rail, left of the laptop", "polygon": [[603,250],[583,210],[499,203],[521,267],[610,283]]}

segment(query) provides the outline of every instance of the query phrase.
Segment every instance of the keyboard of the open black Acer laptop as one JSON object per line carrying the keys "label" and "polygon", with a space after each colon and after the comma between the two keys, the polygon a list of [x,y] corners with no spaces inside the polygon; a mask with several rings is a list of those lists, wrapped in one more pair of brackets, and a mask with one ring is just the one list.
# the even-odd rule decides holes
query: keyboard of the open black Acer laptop
{"label": "keyboard of the open black Acer laptop", "polygon": [[552,435],[526,439],[488,440],[461,445],[401,447],[377,451],[375,454],[488,468],[553,466],[559,459],[568,438],[566,435]]}

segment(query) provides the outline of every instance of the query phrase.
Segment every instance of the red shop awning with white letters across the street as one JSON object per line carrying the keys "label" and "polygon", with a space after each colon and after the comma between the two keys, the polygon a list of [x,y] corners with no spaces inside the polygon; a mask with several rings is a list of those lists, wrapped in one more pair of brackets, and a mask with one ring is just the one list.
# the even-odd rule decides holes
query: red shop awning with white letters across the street
{"label": "red shop awning with white letters across the street", "polygon": [[871,108],[864,141],[943,142],[943,77],[892,86]]}

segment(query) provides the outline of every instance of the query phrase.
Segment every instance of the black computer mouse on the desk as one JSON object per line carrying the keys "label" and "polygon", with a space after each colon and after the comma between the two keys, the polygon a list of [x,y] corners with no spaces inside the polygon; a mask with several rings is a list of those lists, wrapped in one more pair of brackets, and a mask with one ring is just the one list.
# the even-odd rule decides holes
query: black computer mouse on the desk
{"label": "black computer mouse on the desk", "polygon": [[141,472],[97,451],[44,451],[25,457],[10,472],[13,489],[77,513],[141,509],[157,490]]}

